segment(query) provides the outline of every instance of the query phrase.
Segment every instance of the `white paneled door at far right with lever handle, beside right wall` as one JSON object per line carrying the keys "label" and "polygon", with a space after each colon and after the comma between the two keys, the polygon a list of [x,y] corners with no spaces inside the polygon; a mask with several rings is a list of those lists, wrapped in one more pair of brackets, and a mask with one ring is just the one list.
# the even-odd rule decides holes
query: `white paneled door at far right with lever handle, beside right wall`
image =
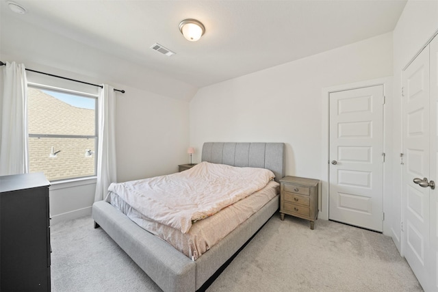
{"label": "white paneled door at far right with lever handle, beside right wall", "polygon": [[[429,68],[426,47],[403,72],[403,231],[404,256],[411,269],[425,291],[436,291],[432,290],[430,278],[430,257],[435,256],[436,262],[436,253],[430,250],[431,188],[426,180],[433,180],[430,174],[437,167],[434,145],[437,104],[430,98]],[[434,112],[435,117],[430,115]]]}

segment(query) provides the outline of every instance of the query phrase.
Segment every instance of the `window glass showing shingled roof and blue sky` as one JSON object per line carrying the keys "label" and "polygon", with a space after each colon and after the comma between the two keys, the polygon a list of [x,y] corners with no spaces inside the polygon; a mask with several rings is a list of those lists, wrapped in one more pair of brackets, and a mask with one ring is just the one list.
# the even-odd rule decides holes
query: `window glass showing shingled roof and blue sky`
{"label": "window glass showing shingled roof and blue sky", "polygon": [[97,96],[29,85],[29,171],[49,181],[96,175]]}

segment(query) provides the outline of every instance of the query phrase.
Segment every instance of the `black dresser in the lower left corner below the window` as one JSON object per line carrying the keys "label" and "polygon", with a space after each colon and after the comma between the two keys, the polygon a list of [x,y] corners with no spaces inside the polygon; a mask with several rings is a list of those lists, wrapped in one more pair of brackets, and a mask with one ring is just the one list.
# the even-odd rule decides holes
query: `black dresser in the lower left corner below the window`
{"label": "black dresser in the lower left corner below the window", "polygon": [[0,290],[50,291],[49,181],[0,176]]}

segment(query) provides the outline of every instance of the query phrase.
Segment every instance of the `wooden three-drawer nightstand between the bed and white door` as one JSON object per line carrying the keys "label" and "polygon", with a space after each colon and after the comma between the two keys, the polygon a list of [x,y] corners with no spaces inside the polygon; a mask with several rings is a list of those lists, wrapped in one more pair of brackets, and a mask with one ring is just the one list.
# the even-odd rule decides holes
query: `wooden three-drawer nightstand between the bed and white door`
{"label": "wooden three-drawer nightstand between the bed and white door", "polygon": [[285,176],[280,180],[281,220],[285,214],[310,221],[313,230],[318,218],[318,179]]}

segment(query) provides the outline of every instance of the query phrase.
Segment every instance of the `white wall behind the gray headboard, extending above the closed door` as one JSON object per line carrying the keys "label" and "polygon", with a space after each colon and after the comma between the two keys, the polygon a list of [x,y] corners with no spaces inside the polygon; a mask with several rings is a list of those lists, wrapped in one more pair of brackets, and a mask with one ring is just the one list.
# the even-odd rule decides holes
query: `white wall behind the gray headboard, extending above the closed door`
{"label": "white wall behind the gray headboard, extending above the closed door", "polygon": [[323,88],[392,70],[388,33],[201,88],[190,103],[194,161],[203,142],[285,142],[286,174],[321,179]]}

